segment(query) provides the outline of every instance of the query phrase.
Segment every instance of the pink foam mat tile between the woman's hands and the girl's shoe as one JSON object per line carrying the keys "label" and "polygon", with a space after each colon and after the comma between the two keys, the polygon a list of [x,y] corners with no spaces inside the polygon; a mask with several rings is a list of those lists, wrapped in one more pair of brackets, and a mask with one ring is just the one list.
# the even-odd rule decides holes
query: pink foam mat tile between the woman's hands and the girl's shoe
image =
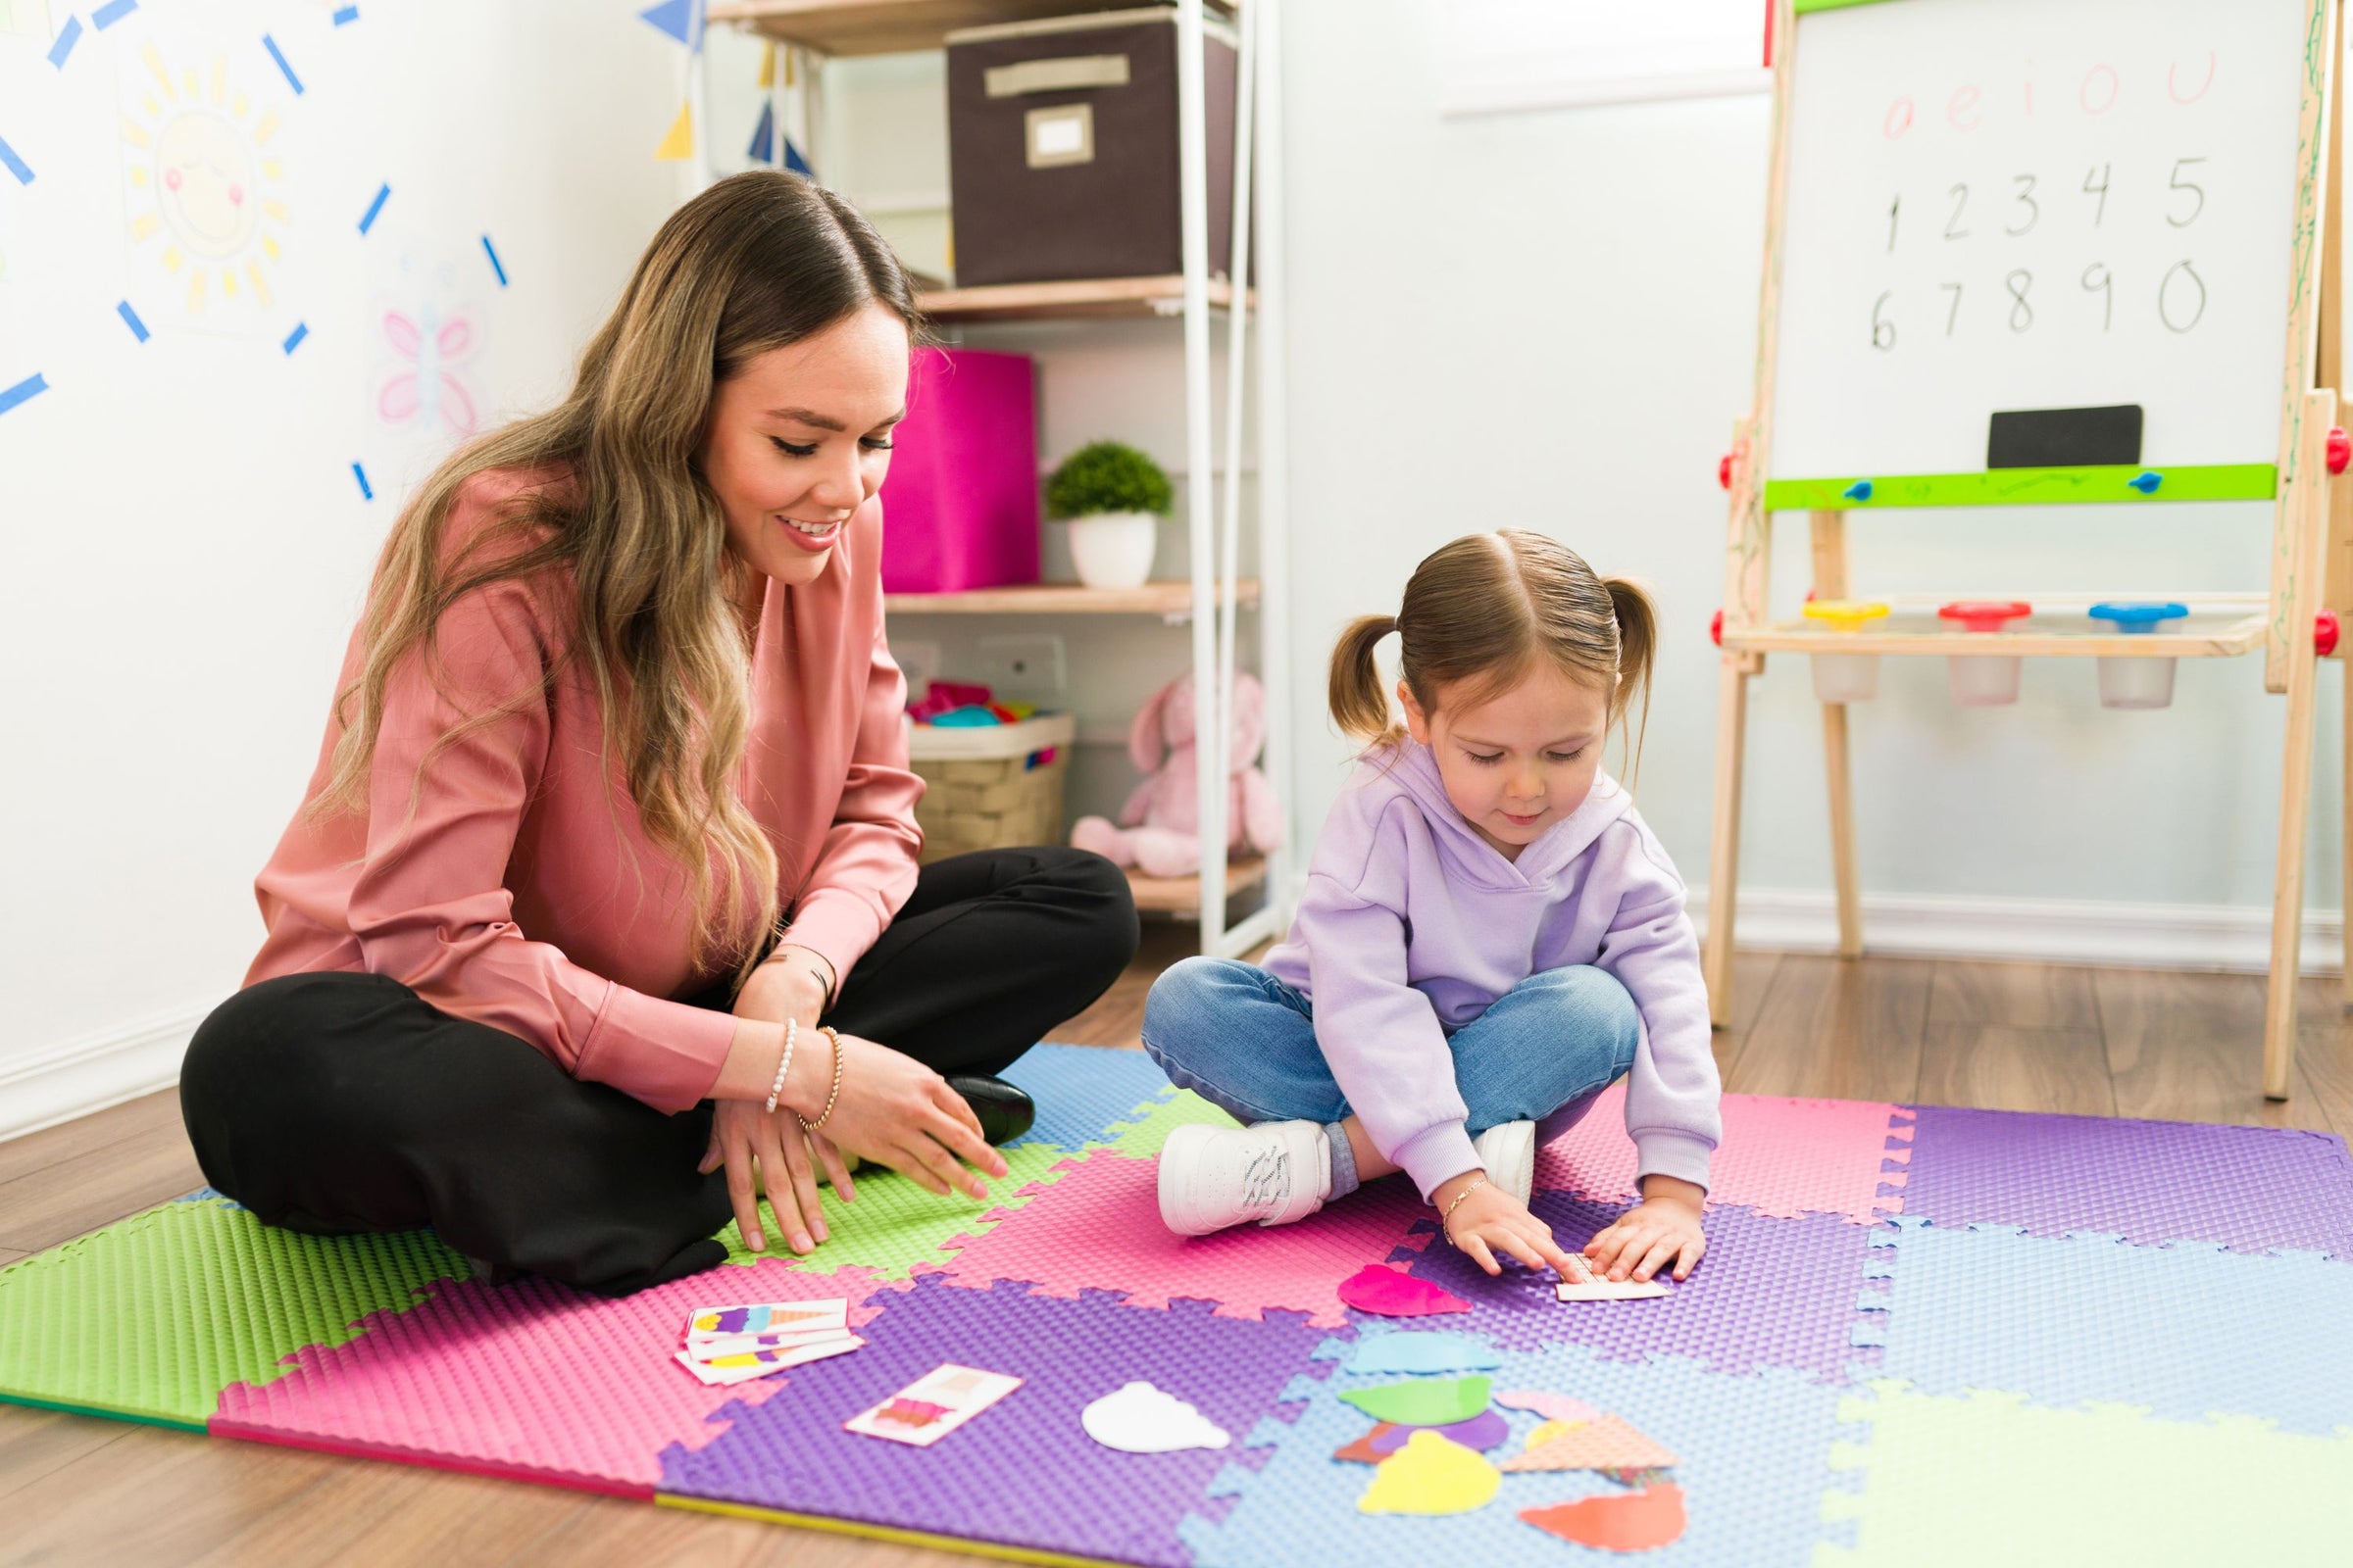
{"label": "pink foam mat tile between the woman's hands and the girl's shoe", "polygon": [[1339,1281],[1400,1246],[1414,1248],[1409,1229],[1424,1215],[1409,1182],[1386,1180],[1297,1225],[1179,1237],[1160,1222],[1155,1161],[1096,1150],[1024,1204],[1019,1225],[965,1244],[944,1272],[948,1284],[979,1291],[1019,1279],[1031,1295],[1120,1291],[1129,1307],[1162,1309],[1181,1295],[1217,1302],[1217,1316],[1259,1321],[1282,1307],[1339,1328],[1348,1321]]}

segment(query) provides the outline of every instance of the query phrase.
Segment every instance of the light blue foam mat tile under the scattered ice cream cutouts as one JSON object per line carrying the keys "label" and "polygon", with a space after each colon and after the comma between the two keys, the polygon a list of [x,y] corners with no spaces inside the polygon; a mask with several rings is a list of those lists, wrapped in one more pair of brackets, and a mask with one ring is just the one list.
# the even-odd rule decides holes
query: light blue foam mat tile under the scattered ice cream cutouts
{"label": "light blue foam mat tile under the scattered ice cream cutouts", "polygon": [[[1355,1380],[1334,1373],[1332,1382]],[[1657,1561],[1732,1568],[1812,1561],[1840,1432],[1835,1385],[1791,1368],[1734,1378],[1678,1356],[1602,1361],[1591,1349],[1553,1345],[1506,1349],[1497,1387],[1584,1399],[1675,1450],[1675,1483],[1692,1500],[1689,1528]],[[1365,1418],[1339,1392],[1320,1389],[1271,1446],[1266,1467],[1233,1479],[1238,1500],[1221,1521],[1195,1514],[1179,1526],[1195,1568],[1600,1561],[1518,1519],[1525,1507],[1621,1490],[1591,1472],[1506,1474],[1497,1500],[1471,1514],[1358,1514],[1355,1500],[1372,1474],[1332,1453],[1365,1436]],[[1501,1415],[1513,1429],[1511,1448],[1537,1429],[1529,1410]]]}

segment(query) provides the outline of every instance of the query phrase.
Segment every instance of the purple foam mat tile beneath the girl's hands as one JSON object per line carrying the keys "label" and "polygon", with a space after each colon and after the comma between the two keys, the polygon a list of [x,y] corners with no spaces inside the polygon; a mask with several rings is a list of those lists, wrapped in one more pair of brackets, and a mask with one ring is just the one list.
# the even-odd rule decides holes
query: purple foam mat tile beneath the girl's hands
{"label": "purple foam mat tile beneath the girl's hands", "polygon": [[[1567,1251],[1626,1213],[1624,1204],[1565,1192],[1537,1192],[1529,1208]],[[1774,1220],[1744,1208],[1711,1208],[1704,1225],[1708,1255],[1659,1300],[1562,1302],[1553,1298],[1548,1272],[1506,1265],[1501,1279],[1489,1279],[1442,1241],[1414,1255],[1412,1272],[1471,1302],[1468,1314],[1433,1321],[1504,1349],[1591,1345],[1619,1361],[1668,1354],[1720,1373],[1793,1366],[1845,1382],[1854,1359],[1854,1298],[1873,1232],[1835,1213]]]}

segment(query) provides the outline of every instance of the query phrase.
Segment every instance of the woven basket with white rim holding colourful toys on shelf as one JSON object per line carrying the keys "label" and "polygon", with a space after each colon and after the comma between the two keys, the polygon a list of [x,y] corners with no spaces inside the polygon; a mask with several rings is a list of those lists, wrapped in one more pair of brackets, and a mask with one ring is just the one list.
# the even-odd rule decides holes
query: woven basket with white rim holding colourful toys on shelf
{"label": "woven basket with white rim holding colourful toys on shelf", "polygon": [[1045,712],[1019,724],[915,724],[908,750],[929,785],[915,806],[922,863],[974,849],[1061,844],[1061,780],[1078,722]]}

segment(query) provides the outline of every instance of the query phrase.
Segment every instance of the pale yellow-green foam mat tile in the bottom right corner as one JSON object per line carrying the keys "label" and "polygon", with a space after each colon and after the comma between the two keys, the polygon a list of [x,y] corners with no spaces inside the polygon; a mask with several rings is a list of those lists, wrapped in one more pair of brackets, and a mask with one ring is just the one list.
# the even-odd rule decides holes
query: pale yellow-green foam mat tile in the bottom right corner
{"label": "pale yellow-green foam mat tile in the bottom right corner", "polygon": [[1875,1382],[1838,1418],[1817,1568],[1984,1563],[2322,1563],[2353,1537],[2353,1429],[2153,1420],[2139,1406],[2028,1406],[2024,1394],[1934,1399]]}

